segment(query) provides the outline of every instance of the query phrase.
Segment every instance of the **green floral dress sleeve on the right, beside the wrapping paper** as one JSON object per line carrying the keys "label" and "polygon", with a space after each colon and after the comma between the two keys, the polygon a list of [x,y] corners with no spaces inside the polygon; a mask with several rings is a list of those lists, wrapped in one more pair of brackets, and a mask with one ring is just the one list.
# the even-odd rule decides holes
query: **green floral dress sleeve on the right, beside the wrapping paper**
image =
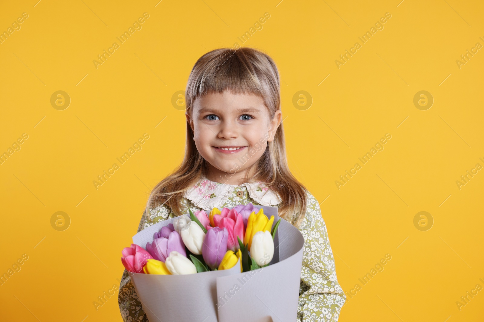
{"label": "green floral dress sleeve on the right, beside the wrapping paper", "polygon": [[299,229],[304,237],[304,251],[297,321],[338,321],[346,295],[336,279],[333,251],[318,201],[310,193]]}

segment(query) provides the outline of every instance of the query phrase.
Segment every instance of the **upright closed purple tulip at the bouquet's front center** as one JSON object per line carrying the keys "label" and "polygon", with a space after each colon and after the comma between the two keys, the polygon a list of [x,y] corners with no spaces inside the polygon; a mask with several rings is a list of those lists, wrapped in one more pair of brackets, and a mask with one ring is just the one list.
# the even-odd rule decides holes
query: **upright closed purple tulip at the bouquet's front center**
{"label": "upright closed purple tulip at the bouquet's front center", "polygon": [[227,228],[214,227],[207,231],[203,239],[202,256],[210,268],[215,269],[227,252]]}

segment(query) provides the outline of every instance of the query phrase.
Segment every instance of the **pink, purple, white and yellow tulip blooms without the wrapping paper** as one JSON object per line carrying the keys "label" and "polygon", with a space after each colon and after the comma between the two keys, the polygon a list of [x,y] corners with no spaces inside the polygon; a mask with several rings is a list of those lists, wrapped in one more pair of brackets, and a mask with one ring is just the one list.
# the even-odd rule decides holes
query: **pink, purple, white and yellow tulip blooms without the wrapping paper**
{"label": "pink, purple, white and yellow tulip blooms without the wrapping paper", "polygon": [[262,208],[249,203],[233,209],[213,208],[210,214],[189,212],[190,216],[177,217],[154,233],[146,250],[136,244],[123,249],[121,262],[126,270],[184,275],[229,269],[240,262],[241,272],[246,272],[271,262],[280,219],[272,227],[274,216],[268,219]]}

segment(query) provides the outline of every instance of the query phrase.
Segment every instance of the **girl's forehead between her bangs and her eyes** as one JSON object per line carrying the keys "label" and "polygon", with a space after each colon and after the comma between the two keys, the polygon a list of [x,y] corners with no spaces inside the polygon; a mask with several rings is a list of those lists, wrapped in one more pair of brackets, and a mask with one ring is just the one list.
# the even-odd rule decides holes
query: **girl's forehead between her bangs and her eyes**
{"label": "girl's forehead between her bangs and her eyes", "polygon": [[255,94],[234,94],[230,91],[209,93],[198,97],[194,102],[194,112],[264,112],[268,108],[264,100]]}

